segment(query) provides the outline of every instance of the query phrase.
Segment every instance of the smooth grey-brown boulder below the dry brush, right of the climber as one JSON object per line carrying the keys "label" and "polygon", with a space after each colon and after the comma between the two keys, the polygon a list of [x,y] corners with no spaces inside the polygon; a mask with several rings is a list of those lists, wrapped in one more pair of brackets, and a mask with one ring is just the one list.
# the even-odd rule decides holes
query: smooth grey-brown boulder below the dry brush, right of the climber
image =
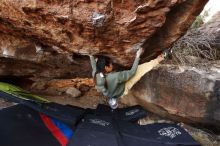
{"label": "smooth grey-brown boulder below the dry brush, right of the climber", "polygon": [[[219,62],[217,62],[219,64]],[[220,66],[205,69],[162,65],[146,74],[122,99],[164,117],[220,126]]]}

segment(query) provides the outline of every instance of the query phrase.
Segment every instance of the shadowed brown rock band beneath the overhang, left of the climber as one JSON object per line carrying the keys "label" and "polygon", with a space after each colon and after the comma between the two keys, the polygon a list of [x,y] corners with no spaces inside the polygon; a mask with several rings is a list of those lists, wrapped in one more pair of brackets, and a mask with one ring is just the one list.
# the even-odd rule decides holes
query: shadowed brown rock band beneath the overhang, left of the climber
{"label": "shadowed brown rock band beneath the overhang, left of the climber", "polygon": [[[0,33],[0,76],[72,78],[90,76],[88,57]],[[82,68],[83,66],[83,68]]]}

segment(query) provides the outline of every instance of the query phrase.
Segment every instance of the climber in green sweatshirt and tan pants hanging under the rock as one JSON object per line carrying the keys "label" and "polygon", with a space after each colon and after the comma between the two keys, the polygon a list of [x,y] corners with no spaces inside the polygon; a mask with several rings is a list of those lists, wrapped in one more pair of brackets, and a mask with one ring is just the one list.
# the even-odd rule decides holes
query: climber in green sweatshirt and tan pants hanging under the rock
{"label": "climber in green sweatshirt and tan pants hanging under the rock", "polygon": [[162,53],[156,59],[138,65],[142,52],[143,48],[138,49],[130,70],[120,72],[113,72],[113,64],[109,58],[99,57],[96,62],[94,56],[89,55],[96,89],[108,97],[108,103],[112,109],[116,109],[118,106],[117,98],[128,94],[133,85],[163,61],[168,54]]}

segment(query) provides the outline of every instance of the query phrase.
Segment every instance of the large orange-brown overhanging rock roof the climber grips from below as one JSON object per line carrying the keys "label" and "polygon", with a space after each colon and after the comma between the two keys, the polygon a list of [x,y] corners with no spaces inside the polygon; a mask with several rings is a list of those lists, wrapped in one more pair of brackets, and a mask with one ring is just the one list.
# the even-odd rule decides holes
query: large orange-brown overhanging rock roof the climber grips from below
{"label": "large orange-brown overhanging rock roof the climber grips from below", "polygon": [[1,0],[0,32],[22,42],[106,55],[131,65],[137,43],[146,40],[144,58],[149,60],[186,31],[207,1]]}

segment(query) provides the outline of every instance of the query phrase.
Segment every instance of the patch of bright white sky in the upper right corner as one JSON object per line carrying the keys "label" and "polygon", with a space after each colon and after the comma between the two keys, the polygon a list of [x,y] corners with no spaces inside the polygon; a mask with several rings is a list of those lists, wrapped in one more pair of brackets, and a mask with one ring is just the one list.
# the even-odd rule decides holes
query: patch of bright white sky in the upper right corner
{"label": "patch of bright white sky in the upper right corner", "polygon": [[[211,17],[216,12],[220,11],[220,0],[209,0],[209,2],[206,4],[204,10],[209,10],[209,16],[205,20],[207,22],[211,19]],[[204,10],[203,10],[203,12],[204,12]]]}

